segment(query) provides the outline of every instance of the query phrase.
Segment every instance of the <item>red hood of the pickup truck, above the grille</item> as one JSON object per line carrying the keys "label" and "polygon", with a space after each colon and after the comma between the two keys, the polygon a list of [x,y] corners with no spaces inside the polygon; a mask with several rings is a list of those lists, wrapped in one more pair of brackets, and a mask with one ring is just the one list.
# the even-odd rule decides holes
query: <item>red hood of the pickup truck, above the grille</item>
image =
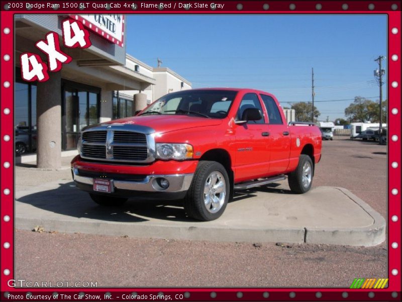
{"label": "red hood of the pickup truck, above the grille", "polygon": [[144,116],[121,118],[102,124],[141,125],[151,127],[156,132],[159,133],[166,133],[181,129],[215,126],[222,124],[222,122],[223,122],[222,119],[171,114],[171,115],[144,115]]}

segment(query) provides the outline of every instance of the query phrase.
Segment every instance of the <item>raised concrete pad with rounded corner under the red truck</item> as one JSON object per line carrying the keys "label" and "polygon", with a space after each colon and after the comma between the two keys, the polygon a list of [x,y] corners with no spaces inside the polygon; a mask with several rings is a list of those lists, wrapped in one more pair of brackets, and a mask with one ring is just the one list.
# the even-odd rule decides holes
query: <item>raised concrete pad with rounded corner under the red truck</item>
{"label": "raised concrete pad with rounded corner under the red truck", "polygon": [[[273,185],[275,186],[275,185]],[[265,186],[236,194],[217,220],[187,218],[180,201],[135,199],[102,207],[62,179],[16,191],[17,229],[165,239],[373,246],[385,220],[346,189],[317,187],[302,195]]]}

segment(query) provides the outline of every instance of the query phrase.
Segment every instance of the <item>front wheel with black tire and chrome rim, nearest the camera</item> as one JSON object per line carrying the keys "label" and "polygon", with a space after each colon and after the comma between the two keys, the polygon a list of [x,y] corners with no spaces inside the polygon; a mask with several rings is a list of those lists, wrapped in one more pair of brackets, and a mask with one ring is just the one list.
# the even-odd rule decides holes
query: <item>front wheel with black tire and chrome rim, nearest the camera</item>
{"label": "front wheel with black tire and chrome rim, nearest the camera", "polygon": [[194,219],[215,220],[225,211],[229,196],[226,169],[217,162],[201,161],[184,198],[184,209]]}

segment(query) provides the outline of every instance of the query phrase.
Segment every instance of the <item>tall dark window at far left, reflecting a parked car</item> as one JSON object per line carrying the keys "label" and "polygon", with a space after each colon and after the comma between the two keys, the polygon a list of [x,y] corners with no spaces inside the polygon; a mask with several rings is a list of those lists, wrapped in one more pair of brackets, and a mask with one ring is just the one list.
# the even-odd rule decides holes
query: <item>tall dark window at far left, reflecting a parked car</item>
{"label": "tall dark window at far left, reflecting a parked car", "polygon": [[20,156],[36,151],[36,85],[23,81],[16,69],[14,83],[14,125],[16,155]]}

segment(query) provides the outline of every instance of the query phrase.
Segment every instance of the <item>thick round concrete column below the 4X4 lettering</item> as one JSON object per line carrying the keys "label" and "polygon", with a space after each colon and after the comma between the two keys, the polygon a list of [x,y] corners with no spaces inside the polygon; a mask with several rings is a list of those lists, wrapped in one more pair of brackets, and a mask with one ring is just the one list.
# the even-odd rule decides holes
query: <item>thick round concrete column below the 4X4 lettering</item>
{"label": "thick round concrete column below the 4X4 lettering", "polygon": [[49,72],[49,80],[37,83],[37,167],[61,167],[61,72]]}

